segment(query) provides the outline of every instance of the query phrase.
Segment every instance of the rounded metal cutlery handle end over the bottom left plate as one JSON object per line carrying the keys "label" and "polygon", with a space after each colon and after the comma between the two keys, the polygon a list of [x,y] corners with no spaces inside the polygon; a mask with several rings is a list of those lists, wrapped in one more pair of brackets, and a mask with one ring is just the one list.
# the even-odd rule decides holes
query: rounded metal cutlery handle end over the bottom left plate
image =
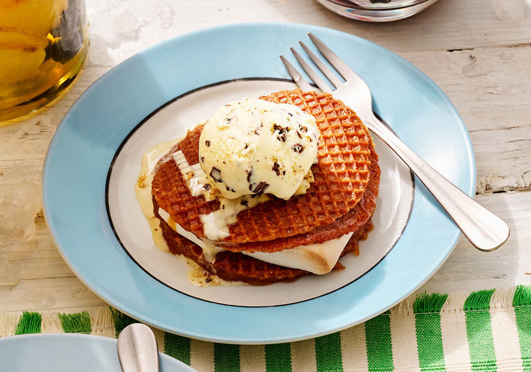
{"label": "rounded metal cutlery handle end over the bottom left plate", "polygon": [[159,371],[159,348],[150,327],[133,323],[118,336],[118,359],[124,372]]}

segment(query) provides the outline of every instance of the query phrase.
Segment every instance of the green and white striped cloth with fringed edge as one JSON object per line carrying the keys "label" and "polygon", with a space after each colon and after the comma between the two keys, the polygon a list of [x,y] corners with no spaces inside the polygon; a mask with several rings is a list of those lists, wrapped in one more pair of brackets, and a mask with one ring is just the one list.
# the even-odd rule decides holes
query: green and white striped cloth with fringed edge
{"label": "green and white striped cloth with fringed edge", "polygon": [[[0,336],[78,332],[117,337],[112,308],[0,315]],[[276,345],[227,345],[154,329],[161,352],[198,371],[531,371],[531,286],[414,294],[344,331]]]}

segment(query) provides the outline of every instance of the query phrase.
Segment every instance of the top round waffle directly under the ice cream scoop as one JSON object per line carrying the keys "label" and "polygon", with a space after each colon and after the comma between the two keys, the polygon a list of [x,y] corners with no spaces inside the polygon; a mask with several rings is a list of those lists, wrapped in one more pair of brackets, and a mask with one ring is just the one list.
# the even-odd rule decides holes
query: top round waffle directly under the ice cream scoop
{"label": "top round waffle directly under the ice cream scoop", "polygon": [[[219,241],[227,249],[241,250],[246,243],[272,242],[311,234],[320,227],[329,229],[361,201],[371,178],[371,157],[372,163],[377,161],[368,130],[354,110],[333,99],[330,94],[293,90],[261,99],[295,104],[316,118],[321,136],[318,162],[312,166],[314,182],[306,194],[293,196],[287,201],[271,198],[238,213],[237,221],[228,227],[229,235]],[[189,164],[198,163],[198,141],[202,128],[198,126],[189,131],[187,137],[173,149],[182,150]],[[165,160],[159,165],[152,183],[157,205],[185,230],[199,238],[207,238],[201,215],[218,210],[219,201],[207,201],[201,195],[192,196],[177,164]],[[359,221],[356,224],[361,226]],[[356,226],[351,226],[349,232],[355,229]],[[292,248],[296,242],[297,238],[291,239],[289,247],[284,242],[282,249]],[[275,246],[272,243],[269,245]],[[251,248],[247,245],[247,249],[257,250],[259,246]]]}

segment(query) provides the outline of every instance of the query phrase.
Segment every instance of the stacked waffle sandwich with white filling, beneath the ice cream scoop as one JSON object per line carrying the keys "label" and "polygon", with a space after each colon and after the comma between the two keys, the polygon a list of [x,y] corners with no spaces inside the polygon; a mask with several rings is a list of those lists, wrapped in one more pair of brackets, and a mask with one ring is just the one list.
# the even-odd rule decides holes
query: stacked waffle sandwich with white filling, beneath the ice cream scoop
{"label": "stacked waffle sandwich with white filling, beneath the ice cream scoop", "polygon": [[164,240],[170,252],[209,275],[252,285],[340,268],[337,259],[357,252],[358,240],[372,229],[380,176],[372,138],[356,113],[330,94],[293,90],[261,99],[315,117],[320,137],[310,188],[287,200],[262,194],[231,203],[208,183],[199,182],[197,192],[198,125],[153,171],[153,212]]}

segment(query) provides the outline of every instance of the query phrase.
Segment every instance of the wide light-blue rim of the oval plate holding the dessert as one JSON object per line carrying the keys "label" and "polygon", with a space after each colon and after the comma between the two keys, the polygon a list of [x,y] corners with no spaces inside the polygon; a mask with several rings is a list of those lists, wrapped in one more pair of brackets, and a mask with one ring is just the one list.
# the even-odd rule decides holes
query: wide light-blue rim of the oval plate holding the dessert
{"label": "wide light-blue rim of the oval plate holding the dessert", "polygon": [[106,191],[110,166],[126,138],[188,92],[238,79],[289,79],[278,56],[289,55],[289,47],[306,40],[308,31],[365,79],[375,111],[405,143],[474,194],[472,145],[456,109],[432,80],[392,52],[350,34],[300,24],[235,24],[179,36],[127,59],[89,87],[57,128],[46,155],[48,227],[71,269],[110,305],[192,338],[296,341],[384,312],[449,256],[460,231],[418,180],[409,222],[393,250],[354,282],[308,301],[254,307],[204,301],[150,276],[122,248],[108,217]]}

